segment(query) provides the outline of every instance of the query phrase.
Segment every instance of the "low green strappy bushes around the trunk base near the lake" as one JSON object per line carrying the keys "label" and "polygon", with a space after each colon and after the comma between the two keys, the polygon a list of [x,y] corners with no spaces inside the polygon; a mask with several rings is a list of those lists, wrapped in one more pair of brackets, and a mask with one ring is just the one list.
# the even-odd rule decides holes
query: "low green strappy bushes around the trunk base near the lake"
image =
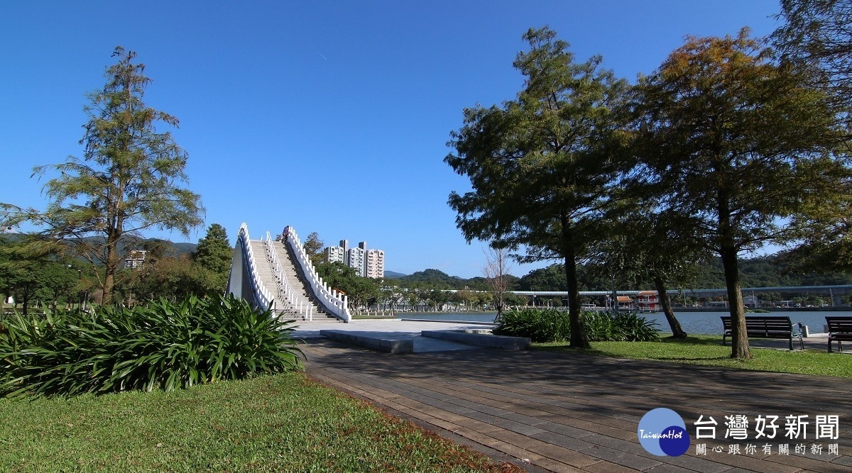
{"label": "low green strappy bushes around the trunk base near the lake", "polygon": [[[635,313],[586,311],[583,322],[591,341],[653,341],[659,339],[656,322]],[[537,343],[570,339],[568,314],[556,309],[510,310],[503,314],[493,333],[528,337]]]}

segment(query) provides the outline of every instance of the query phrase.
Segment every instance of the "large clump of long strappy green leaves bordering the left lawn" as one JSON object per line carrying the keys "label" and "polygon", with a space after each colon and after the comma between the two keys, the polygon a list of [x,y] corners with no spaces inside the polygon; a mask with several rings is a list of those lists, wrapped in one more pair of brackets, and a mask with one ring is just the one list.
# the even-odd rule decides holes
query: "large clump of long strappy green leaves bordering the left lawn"
{"label": "large clump of long strappy green leaves bordering the left lawn", "polygon": [[228,294],[160,299],[93,313],[14,314],[0,329],[0,392],[76,396],[122,390],[174,390],[300,366],[289,323]]}

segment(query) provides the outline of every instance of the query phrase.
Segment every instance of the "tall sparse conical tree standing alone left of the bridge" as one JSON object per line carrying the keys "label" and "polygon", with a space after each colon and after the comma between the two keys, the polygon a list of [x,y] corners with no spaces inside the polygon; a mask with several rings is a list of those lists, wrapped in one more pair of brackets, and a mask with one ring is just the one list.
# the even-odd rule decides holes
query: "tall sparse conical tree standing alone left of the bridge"
{"label": "tall sparse conical tree standing alone left of the bridge", "polygon": [[106,85],[88,95],[84,108],[89,122],[80,140],[83,159],[69,157],[33,169],[39,176],[60,172],[44,186],[48,208],[39,212],[0,204],[4,226],[32,221],[46,227],[43,234],[56,244],[93,265],[103,264],[104,303],[110,301],[122,263],[118,242],[149,228],[188,237],[201,225],[203,213],[198,194],[179,186],[187,180],[187,152],[169,132],[157,132],[160,123],[177,127],[177,118],[142,102],[151,79],[143,75],[145,66],[133,62],[134,52],[117,47],[112,55],[118,63],[107,68]]}

